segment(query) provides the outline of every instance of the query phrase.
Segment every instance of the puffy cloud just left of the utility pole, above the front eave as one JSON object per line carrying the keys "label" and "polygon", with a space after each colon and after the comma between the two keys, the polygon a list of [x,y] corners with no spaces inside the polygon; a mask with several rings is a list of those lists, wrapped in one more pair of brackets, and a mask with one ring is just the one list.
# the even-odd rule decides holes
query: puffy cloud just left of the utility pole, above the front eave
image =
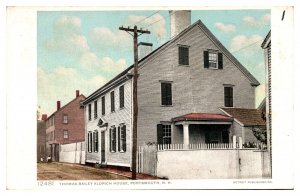
{"label": "puffy cloud just left of the utility pole, above the front eave", "polygon": [[80,64],[88,70],[99,70],[99,72],[115,75],[127,68],[126,60],[119,59],[114,61],[110,57],[98,58],[93,52],[87,52],[80,58]]}

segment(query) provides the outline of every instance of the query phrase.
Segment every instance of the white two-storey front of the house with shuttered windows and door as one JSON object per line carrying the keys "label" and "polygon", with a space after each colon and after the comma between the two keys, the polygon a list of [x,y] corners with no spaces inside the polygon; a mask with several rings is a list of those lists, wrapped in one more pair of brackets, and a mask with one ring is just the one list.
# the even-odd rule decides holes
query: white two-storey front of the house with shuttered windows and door
{"label": "white two-storey front of the house with shuttered windows and door", "polygon": [[88,163],[130,167],[132,75],[128,70],[83,101]]}

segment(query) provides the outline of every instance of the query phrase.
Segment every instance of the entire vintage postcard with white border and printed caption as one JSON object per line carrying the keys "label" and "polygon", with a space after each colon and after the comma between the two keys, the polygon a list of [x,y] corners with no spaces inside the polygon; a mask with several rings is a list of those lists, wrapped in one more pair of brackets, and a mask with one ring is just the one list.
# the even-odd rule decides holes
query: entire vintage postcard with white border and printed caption
{"label": "entire vintage postcard with white border and printed caption", "polygon": [[7,189],[293,189],[293,16],[7,7]]}

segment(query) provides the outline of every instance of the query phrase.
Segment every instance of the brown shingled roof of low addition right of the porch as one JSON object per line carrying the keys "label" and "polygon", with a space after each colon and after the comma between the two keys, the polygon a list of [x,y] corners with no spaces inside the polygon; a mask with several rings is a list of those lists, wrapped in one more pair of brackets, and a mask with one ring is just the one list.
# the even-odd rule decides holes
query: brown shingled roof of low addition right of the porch
{"label": "brown shingled roof of low addition right of the porch", "polygon": [[259,109],[245,108],[220,108],[226,115],[233,117],[240,125],[248,126],[265,126],[266,121],[263,119],[263,113]]}

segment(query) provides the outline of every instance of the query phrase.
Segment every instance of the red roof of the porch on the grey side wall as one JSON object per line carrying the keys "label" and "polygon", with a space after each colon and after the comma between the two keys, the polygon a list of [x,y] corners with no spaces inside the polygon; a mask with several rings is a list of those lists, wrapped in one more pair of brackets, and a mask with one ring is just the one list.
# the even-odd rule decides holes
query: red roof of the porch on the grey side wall
{"label": "red roof of the porch on the grey side wall", "polygon": [[178,121],[233,121],[229,116],[222,114],[208,114],[208,113],[190,113],[182,116],[172,118],[173,122]]}

